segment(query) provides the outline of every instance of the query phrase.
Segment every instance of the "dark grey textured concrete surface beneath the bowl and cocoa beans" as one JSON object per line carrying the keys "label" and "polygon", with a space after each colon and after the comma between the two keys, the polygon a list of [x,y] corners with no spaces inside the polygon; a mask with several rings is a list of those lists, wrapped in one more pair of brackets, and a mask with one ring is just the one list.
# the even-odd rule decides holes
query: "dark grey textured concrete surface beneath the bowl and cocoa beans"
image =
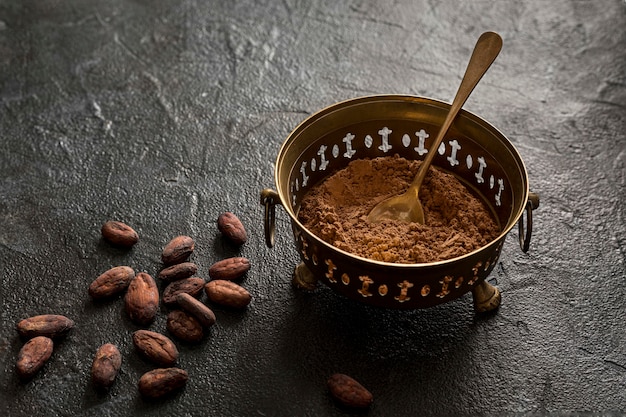
{"label": "dark grey textured concrete surface beneath the bowl and cocoa beans", "polygon": [[[0,414],[350,415],[326,392],[334,372],[373,392],[370,416],[624,411],[625,28],[622,0],[0,1]],[[485,30],[504,48],[465,108],[511,139],[541,195],[530,252],[512,233],[490,276],[499,311],[293,289],[287,216],[268,249],[259,205],[289,131],[362,95],[450,101]],[[226,210],[248,228],[241,250],[217,233]],[[140,243],[102,242],[108,219]],[[187,387],[146,401],[136,326],[87,287],[115,265],[155,275],[177,234],[196,239],[200,276],[248,257],[254,299],[216,308],[205,341],[179,343]],[[76,328],[22,383],[15,324],[42,313]],[[105,342],[124,363],[98,394]]]}

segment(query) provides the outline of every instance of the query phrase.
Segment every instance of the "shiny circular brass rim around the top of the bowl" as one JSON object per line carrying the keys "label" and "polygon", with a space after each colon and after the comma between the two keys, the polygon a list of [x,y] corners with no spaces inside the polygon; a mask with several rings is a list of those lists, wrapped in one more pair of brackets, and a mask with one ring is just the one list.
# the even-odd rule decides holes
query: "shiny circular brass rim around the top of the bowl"
{"label": "shiny circular brass rim around the top of the bowl", "polygon": [[[513,229],[513,227],[517,225],[517,223],[519,222],[519,219],[524,214],[524,211],[526,209],[526,204],[520,205],[518,212],[514,214],[514,216],[509,221],[508,225],[504,225],[505,227],[502,228],[498,236],[495,239],[493,239],[491,242],[479,247],[478,249],[468,252],[464,255],[457,256],[454,258],[444,259],[441,261],[434,261],[434,262],[395,263],[395,262],[378,261],[375,259],[370,259],[370,258],[366,258],[363,256],[359,256],[354,253],[347,252],[343,249],[340,249],[326,242],[325,240],[321,239],[320,237],[312,233],[307,227],[304,226],[304,224],[300,222],[297,214],[291,207],[291,204],[289,204],[288,196],[283,195],[283,188],[280,186],[281,185],[280,175],[279,175],[280,168],[281,168],[280,161],[282,160],[282,157],[284,153],[286,152],[287,147],[291,143],[291,139],[295,135],[299,134],[299,132],[304,130],[307,127],[307,125],[313,123],[317,119],[322,118],[326,114],[329,114],[332,111],[339,109],[340,107],[350,105],[350,104],[359,104],[362,102],[385,100],[385,99],[396,99],[400,101],[413,101],[413,102],[420,102],[420,103],[428,103],[428,104],[433,104],[435,106],[444,107],[444,108],[450,107],[450,103],[444,102],[442,100],[430,98],[430,97],[425,97],[425,96],[416,96],[416,95],[411,95],[411,94],[374,94],[374,95],[365,95],[365,96],[359,96],[359,97],[342,100],[342,101],[333,103],[329,106],[323,107],[322,109],[309,115],[307,118],[301,121],[291,132],[289,132],[286,139],[283,141],[283,143],[280,146],[280,149],[278,151],[275,164],[274,164],[274,184],[276,185],[280,202],[282,206],[285,208],[285,210],[287,211],[287,214],[289,215],[292,224],[295,223],[295,225],[297,225],[299,230],[304,232],[309,239],[313,239],[316,242],[316,244],[324,246],[327,250],[338,252],[342,256],[352,258],[354,261],[358,261],[360,263],[375,265],[375,266],[383,267],[383,268],[398,268],[402,270],[405,270],[405,269],[410,270],[410,269],[415,269],[415,268],[423,269],[425,267],[431,268],[431,267],[447,266],[453,263],[461,262],[464,259],[477,256],[478,253],[486,251],[487,249],[489,251],[494,250],[495,247],[500,245],[500,243],[506,238],[506,236],[511,231],[511,229]],[[498,128],[496,128],[490,122],[478,116],[477,114],[470,112],[468,110],[465,110],[465,109],[461,109],[461,111],[457,115],[457,118],[461,116],[469,118],[470,120],[474,122],[478,122],[479,124],[483,125],[485,128],[492,130],[496,135],[498,135],[499,137],[501,137],[502,139],[506,141],[505,145],[508,145],[510,150],[514,152],[516,159],[518,159],[519,161],[519,168],[521,169],[521,174],[522,174],[523,182],[525,185],[524,190],[523,190],[522,201],[528,201],[528,197],[530,193],[528,171],[526,169],[526,165],[524,164],[524,161],[521,155],[519,154],[517,148],[513,145],[513,143],[509,140],[509,138],[506,135],[504,135]]]}

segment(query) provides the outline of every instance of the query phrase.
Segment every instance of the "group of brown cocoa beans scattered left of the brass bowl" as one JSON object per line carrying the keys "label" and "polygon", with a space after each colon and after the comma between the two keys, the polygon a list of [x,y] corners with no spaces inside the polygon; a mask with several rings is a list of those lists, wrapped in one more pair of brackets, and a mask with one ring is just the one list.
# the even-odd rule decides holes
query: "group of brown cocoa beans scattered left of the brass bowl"
{"label": "group of brown cocoa beans scattered left of the brass bowl", "polygon": [[[247,240],[241,221],[232,213],[222,213],[217,221],[218,230],[235,245]],[[101,229],[102,237],[109,243],[130,248],[139,241],[132,227],[119,221],[108,221]],[[165,245],[161,253],[164,268],[157,278],[163,283],[162,294],[155,279],[146,272],[135,272],[129,266],[113,267],[98,276],[89,285],[88,293],[94,300],[111,298],[124,293],[124,310],[129,319],[140,327],[149,327],[159,311],[159,303],[168,308],[167,330],[175,339],[199,342],[205,331],[213,326],[216,317],[207,303],[200,300],[206,293],[209,302],[229,308],[243,309],[252,296],[234,282],[249,269],[250,262],[243,257],[223,259],[211,265],[210,280],[195,276],[198,267],[188,259],[195,249],[189,236],[177,236]],[[204,290],[204,291],[203,291]],[[18,355],[16,370],[20,378],[32,378],[48,361],[54,341],[67,334],[74,322],[62,315],[47,314],[24,319],[17,331],[25,339]],[[141,376],[139,392],[148,398],[157,398],[182,388],[188,373],[176,367],[179,352],[176,344],[166,335],[140,329],[132,334],[133,345],[142,357],[156,368]],[[122,355],[117,346],[105,343],[93,358],[91,380],[99,389],[109,388],[122,366]]]}

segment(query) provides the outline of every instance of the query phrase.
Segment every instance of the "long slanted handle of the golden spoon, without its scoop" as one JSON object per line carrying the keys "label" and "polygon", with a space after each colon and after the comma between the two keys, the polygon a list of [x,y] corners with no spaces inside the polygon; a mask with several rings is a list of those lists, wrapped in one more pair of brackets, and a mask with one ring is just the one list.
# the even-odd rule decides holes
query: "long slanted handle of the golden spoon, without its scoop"
{"label": "long slanted handle of the golden spoon, without its scoop", "polygon": [[430,149],[428,149],[426,158],[424,158],[424,161],[420,165],[415,179],[411,183],[410,188],[414,188],[414,191],[417,192],[419,190],[424,177],[426,177],[426,172],[428,172],[428,167],[435,157],[437,148],[441,145],[441,141],[450,128],[452,121],[456,118],[456,115],[467,101],[467,98],[474,90],[474,87],[476,87],[493,61],[495,61],[496,57],[500,53],[500,49],[502,49],[502,38],[495,32],[485,32],[480,35],[478,41],[476,41],[476,46],[474,47],[472,56],[467,64],[467,68],[465,69],[461,85],[459,85],[456,96],[452,101],[450,111],[448,112],[448,115],[446,116],[446,119],[437,134],[437,138],[430,146]]}

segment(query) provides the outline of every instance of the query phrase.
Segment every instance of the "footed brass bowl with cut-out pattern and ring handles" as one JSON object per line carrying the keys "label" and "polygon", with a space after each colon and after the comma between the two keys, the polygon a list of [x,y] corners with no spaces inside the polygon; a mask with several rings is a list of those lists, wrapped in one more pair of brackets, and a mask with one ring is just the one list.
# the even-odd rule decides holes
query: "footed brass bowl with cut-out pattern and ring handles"
{"label": "footed brass bowl with cut-out pattern and ring handles", "polygon": [[[528,175],[511,142],[480,117],[461,111],[433,165],[456,175],[482,196],[501,233],[466,255],[432,263],[396,264],[359,257],[323,241],[298,220],[303,196],[353,159],[399,154],[421,159],[434,140],[449,104],[422,97],[378,95],[329,106],[302,122],[283,143],[275,167],[277,191],[261,192],[266,243],[275,236],[275,206],[291,218],[302,263],[294,282],[312,288],[321,280],[348,298],[390,308],[425,308],[471,291],[477,311],[500,304],[500,293],[485,278],[496,265],[507,233],[518,224],[522,250],[532,234],[532,210],[539,198],[529,192]],[[526,222],[524,222],[526,213]]]}

